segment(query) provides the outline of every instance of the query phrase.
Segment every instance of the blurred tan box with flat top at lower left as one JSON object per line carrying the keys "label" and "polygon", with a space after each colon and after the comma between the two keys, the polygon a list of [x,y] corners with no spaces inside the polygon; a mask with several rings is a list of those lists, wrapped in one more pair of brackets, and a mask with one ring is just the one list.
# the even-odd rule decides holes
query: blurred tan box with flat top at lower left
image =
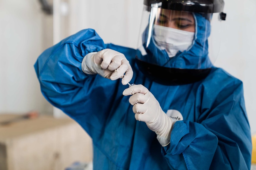
{"label": "blurred tan box with flat top at lower left", "polygon": [[[0,122],[17,116],[0,114]],[[0,125],[0,170],[64,170],[75,161],[92,161],[92,144],[70,118],[39,116]]]}

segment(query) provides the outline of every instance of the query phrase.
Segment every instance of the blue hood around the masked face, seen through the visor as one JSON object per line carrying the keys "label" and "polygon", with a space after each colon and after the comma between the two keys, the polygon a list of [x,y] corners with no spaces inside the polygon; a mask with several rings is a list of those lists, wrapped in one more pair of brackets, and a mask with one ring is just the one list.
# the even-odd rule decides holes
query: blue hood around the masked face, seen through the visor
{"label": "blue hood around the masked face, seen through the visor", "polygon": [[[208,57],[208,37],[211,33],[211,24],[199,13],[193,13],[195,18],[195,38],[188,49],[188,51],[179,51],[176,56],[169,57],[165,50],[157,47],[154,39],[151,37],[148,48],[143,44],[146,49],[147,55],[143,56],[137,50],[137,56],[140,60],[146,61],[151,64],[156,64],[162,67],[180,68],[180,69],[207,69],[211,68],[213,64]],[[147,28],[148,29],[148,28]],[[143,42],[148,36],[148,30],[143,33]]]}

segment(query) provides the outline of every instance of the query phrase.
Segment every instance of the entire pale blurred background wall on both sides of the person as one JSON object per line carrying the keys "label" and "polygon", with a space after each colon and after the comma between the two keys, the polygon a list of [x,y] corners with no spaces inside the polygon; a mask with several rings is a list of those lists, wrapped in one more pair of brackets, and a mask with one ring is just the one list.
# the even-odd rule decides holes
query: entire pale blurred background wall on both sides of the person
{"label": "entire pale blurred background wall on both sides of the person", "polygon": [[[0,113],[38,110],[53,114],[34,72],[43,50],[84,28],[94,28],[105,43],[136,48],[143,0],[53,0],[54,14],[38,0],[0,0]],[[244,83],[252,133],[256,133],[256,1],[225,0],[227,20],[215,63]]]}

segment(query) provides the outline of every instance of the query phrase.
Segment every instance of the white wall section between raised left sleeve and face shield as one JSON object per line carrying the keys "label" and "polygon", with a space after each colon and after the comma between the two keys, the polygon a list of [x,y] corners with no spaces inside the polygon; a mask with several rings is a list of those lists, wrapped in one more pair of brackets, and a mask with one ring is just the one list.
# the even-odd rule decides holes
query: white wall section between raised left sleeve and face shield
{"label": "white wall section between raised left sleeve and face shield", "polygon": [[105,43],[136,48],[143,0],[67,0],[67,2],[69,2],[68,27],[63,29],[68,29],[69,35],[85,28],[93,28]]}

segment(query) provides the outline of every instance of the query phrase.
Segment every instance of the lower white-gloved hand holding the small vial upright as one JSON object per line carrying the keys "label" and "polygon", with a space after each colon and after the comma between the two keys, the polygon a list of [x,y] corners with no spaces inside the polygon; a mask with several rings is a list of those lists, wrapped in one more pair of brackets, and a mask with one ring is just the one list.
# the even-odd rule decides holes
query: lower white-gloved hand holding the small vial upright
{"label": "lower white-gloved hand holding the small vial upright", "polygon": [[148,128],[156,132],[157,140],[162,146],[168,145],[176,120],[165,114],[154,95],[143,85],[130,86],[123,91],[123,95],[132,95],[129,103],[133,105],[135,119],[146,122]]}

